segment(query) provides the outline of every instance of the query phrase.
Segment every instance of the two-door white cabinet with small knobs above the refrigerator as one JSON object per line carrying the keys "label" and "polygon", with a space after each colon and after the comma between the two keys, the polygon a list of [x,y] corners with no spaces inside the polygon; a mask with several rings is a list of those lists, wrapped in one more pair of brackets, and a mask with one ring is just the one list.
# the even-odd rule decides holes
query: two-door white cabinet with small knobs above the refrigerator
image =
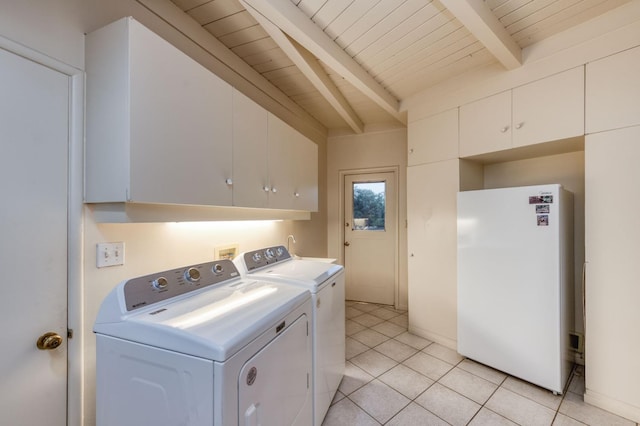
{"label": "two-door white cabinet with small knobs above the refrigerator", "polygon": [[460,107],[460,157],[583,134],[583,67]]}

